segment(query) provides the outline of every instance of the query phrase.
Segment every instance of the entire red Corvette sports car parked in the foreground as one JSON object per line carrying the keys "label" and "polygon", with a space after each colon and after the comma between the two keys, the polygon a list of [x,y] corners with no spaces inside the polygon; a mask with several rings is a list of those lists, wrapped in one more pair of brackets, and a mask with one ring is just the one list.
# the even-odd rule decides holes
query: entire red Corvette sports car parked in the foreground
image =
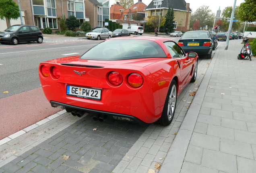
{"label": "entire red Corvette sports car parked in the foreground", "polygon": [[72,115],[169,125],[178,95],[196,80],[197,64],[196,53],[169,38],[119,37],[82,56],[42,62],[39,78],[52,107]]}

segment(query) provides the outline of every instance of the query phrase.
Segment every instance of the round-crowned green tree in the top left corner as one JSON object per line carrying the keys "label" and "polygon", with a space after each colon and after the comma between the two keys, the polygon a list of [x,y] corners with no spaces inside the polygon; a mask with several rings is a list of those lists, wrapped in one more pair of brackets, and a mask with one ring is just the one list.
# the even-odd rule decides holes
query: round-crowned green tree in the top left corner
{"label": "round-crowned green tree in the top left corner", "polygon": [[10,19],[20,17],[19,6],[12,0],[0,0],[0,19],[6,19],[7,28],[10,27]]}

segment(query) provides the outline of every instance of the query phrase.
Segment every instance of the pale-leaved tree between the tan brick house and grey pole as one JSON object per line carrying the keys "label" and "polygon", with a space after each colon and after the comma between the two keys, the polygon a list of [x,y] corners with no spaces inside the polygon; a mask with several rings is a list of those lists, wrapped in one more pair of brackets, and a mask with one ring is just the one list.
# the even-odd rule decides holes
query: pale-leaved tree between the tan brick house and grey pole
{"label": "pale-leaved tree between the tan brick house and grey pole", "polygon": [[196,20],[200,21],[200,25],[203,26],[213,26],[215,14],[209,9],[209,6],[200,6],[194,14],[191,15],[190,28],[193,28],[193,24]]}

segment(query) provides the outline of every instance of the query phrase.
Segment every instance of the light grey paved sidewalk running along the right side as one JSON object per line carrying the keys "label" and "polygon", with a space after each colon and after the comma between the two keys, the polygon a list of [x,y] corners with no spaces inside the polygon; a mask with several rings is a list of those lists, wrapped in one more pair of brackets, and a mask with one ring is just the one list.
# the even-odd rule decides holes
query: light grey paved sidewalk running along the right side
{"label": "light grey paved sidewalk running along the right side", "polygon": [[219,46],[160,173],[256,173],[256,58],[237,59],[241,42]]}

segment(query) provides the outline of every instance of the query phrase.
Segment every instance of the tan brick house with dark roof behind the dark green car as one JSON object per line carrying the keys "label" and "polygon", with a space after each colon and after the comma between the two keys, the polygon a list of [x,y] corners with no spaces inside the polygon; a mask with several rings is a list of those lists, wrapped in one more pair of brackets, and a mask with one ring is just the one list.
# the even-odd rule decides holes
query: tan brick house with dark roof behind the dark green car
{"label": "tan brick house with dark roof behind the dark green car", "polygon": [[185,0],[153,0],[145,10],[147,13],[145,20],[148,20],[149,16],[159,16],[160,10],[164,17],[169,6],[174,10],[175,27],[173,29],[188,31],[192,11],[189,8],[189,3],[186,3]]}

